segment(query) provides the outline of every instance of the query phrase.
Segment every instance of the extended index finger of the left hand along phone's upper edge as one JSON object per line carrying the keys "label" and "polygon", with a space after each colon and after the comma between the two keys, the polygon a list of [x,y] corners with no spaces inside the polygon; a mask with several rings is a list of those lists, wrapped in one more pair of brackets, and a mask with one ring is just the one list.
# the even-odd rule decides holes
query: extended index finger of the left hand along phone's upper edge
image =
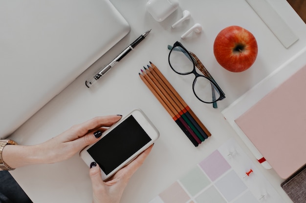
{"label": "extended index finger of the left hand along phone's upper edge", "polygon": [[109,116],[99,116],[93,119],[90,119],[82,124],[75,125],[71,127],[71,137],[68,140],[74,140],[79,137],[83,137],[87,132],[91,129],[97,129],[100,127],[109,127],[116,123],[118,120],[121,119],[121,115],[109,115]]}

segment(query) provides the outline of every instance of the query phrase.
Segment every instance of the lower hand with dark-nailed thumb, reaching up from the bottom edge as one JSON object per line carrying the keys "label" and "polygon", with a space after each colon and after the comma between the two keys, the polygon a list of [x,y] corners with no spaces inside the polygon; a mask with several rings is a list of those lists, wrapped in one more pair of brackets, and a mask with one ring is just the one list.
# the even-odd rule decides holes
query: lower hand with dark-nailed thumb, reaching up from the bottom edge
{"label": "lower hand with dark-nailed thumb, reaching up from the bottom edge", "polygon": [[107,182],[102,181],[101,171],[98,165],[90,168],[89,175],[93,190],[92,203],[119,203],[131,176],[143,164],[152,147],[153,145],[147,148],[129,165],[115,173]]}

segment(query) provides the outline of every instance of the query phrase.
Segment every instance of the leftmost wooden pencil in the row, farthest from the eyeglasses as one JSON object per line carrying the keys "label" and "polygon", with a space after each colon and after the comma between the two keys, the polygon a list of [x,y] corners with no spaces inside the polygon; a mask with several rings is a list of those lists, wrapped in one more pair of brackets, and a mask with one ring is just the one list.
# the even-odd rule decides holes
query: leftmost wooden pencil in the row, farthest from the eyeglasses
{"label": "leftmost wooden pencil in the row, farthest from the eyeglasses", "polygon": [[175,113],[168,107],[168,105],[164,102],[164,100],[159,96],[159,94],[154,90],[154,88],[151,86],[151,84],[149,83],[149,81],[146,80],[146,78],[144,77],[143,74],[139,73],[140,78],[142,79],[142,81],[147,85],[147,87],[151,90],[151,92],[153,93],[153,95],[157,98],[157,100],[161,103],[161,105],[166,109],[166,111],[168,111],[168,113],[170,114],[170,116],[173,118],[173,120],[175,121],[175,123],[179,126],[179,128],[185,133],[185,135],[189,138],[189,140],[193,143],[193,145],[195,147],[198,146],[198,144],[200,144],[200,140],[196,140],[195,137],[197,137],[195,134],[192,135],[190,133],[190,130],[188,130],[188,126],[187,124],[185,124],[184,121],[182,121],[182,119],[179,119],[175,116]]}

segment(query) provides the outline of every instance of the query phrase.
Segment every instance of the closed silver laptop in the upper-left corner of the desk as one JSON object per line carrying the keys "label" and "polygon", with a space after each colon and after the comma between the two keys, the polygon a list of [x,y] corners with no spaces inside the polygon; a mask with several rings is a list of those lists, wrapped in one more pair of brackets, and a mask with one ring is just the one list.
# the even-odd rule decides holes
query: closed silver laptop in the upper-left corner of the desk
{"label": "closed silver laptop in the upper-left corner of the desk", "polygon": [[109,0],[0,0],[0,138],[129,31]]}

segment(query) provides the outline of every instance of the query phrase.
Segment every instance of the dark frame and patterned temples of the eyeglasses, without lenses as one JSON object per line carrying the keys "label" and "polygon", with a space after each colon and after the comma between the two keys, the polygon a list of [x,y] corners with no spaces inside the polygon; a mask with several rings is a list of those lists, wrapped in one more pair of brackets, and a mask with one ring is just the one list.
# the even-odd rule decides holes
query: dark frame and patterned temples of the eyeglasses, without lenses
{"label": "dark frame and patterned temples of the eyeglasses, without lenses", "polygon": [[[176,51],[180,51],[182,52],[184,55],[186,55],[186,57],[189,57],[191,60],[192,60],[192,63],[194,65],[194,68],[191,72],[187,72],[187,73],[179,73],[177,71],[175,71],[175,68],[172,67],[171,65],[171,62],[170,62],[170,55],[172,53],[173,50],[175,50],[175,47],[180,47],[184,50],[184,52],[182,50],[176,50]],[[193,92],[195,94],[195,96],[197,97],[198,100],[200,100],[201,102],[203,103],[207,103],[207,104],[211,104],[213,103],[214,104],[214,108],[217,108],[217,101],[220,101],[222,99],[225,98],[225,94],[224,92],[221,90],[221,88],[219,87],[219,85],[217,84],[217,82],[214,80],[214,78],[211,76],[211,74],[209,74],[209,72],[207,71],[207,69],[205,68],[205,66],[202,64],[202,62],[198,59],[198,57],[192,53],[192,52],[189,52],[179,41],[176,41],[174,43],[174,45],[171,47],[170,45],[168,45],[168,49],[170,50],[169,52],[169,55],[168,55],[168,62],[169,62],[169,65],[171,67],[171,69],[176,73],[176,74],[180,74],[180,75],[187,75],[187,74],[194,74],[195,75],[195,79],[193,81]],[[197,66],[197,68],[202,72],[201,69],[203,69],[203,74],[198,74],[197,71],[196,71],[196,64],[199,65],[200,67]],[[207,76],[205,76],[204,74],[206,74]],[[196,81],[197,81],[197,78],[198,77],[205,77],[206,79],[208,79],[215,87],[212,87],[214,89],[217,89],[220,93],[220,96],[218,99],[216,99],[215,101],[212,101],[212,102],[207,102],[207,101],[203,101],[202,99],[200,99],[198,96],[197,96],[197,93],[195,92],[195,84],[196,84]],[[215,91],[212,91],[213,93],[213,97],[214,97],[214,92]]]}

